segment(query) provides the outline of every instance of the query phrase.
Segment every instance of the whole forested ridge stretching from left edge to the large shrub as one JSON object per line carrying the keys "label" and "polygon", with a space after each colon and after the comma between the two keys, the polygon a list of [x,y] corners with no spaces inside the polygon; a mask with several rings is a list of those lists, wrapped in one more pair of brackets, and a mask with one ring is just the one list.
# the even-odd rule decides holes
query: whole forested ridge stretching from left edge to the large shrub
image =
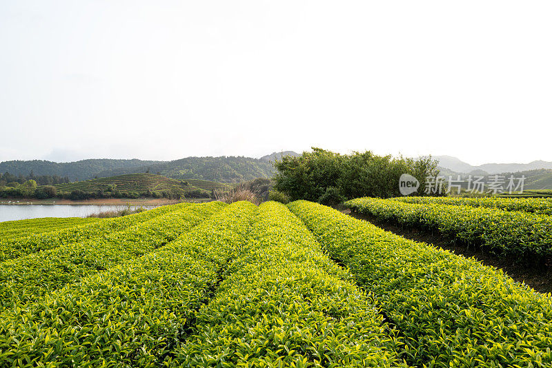
{"label": "whole forested ridge stretching from left edge to the large shrub", "polygon": [[52,161],[5,161],[0,163],[0,172],[16,176],[68,176],[70,181],[83,181],[122,174],[149,172],[169,178],[196,178],[219,183],[239,183],[254,178],[268,178],[274,174],[273,163],[249,157],[188,157],[175,161],[141,161],[90,159],[72,163]]}

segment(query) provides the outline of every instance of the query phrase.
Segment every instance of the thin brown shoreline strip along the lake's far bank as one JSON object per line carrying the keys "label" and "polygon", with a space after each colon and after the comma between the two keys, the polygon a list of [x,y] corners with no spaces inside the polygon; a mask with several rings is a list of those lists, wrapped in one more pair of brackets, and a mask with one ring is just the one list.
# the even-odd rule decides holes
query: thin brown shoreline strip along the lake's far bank
{"label": "thin brown shoreline strip along the lake's far bank", "polygon": [[185,198],[185,199],[167,199],[167,198],[92,198],[73,201],[63,198],[47,199],[26,199],[26,198],[3,198],[0,205],[130,205],[130,206],[163,206],[174,205],[176,203],[190,202],[202,203],[211,201],[209,198]]}

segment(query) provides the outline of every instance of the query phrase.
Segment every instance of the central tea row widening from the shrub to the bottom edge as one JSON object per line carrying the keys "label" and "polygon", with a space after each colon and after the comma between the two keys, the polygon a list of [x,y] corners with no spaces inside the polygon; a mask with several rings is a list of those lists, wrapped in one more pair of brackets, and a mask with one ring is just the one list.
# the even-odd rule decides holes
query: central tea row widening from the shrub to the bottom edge
{"label": "central tea row widening from the shrub to the bottom edge", "polygon": [[259,208],[247,246],[177,350],[183,367],[396,367],[394,332],[284,205]]}

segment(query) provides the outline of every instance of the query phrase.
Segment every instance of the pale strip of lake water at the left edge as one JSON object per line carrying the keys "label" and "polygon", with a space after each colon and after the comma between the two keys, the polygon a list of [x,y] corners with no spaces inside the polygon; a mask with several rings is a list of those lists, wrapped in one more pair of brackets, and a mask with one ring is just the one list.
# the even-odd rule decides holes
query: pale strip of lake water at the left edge
{"label": "pale strip of lake water at the left edge", "polygon": [[[100,212],[126,209],[126,205],[0,205],[0,222],[39,217],[86,217]],[[131,209],[154,206],[130,206]]]}

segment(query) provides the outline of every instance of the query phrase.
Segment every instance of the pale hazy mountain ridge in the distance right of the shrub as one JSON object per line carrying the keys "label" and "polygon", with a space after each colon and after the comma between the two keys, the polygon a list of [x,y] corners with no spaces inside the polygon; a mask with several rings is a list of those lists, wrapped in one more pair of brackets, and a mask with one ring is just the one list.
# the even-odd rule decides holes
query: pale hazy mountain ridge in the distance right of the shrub
{"label": "pale hazy mountain ridge in the distance right of the shrub", "polygon": [[552,162],[532,161],[530,163],[484,163],[483,165],[470,165],[453,156],[433,156],[439,161],[439,166],[459,173],[470,173],[475,170],[482,170],[488,174],[502,174],[503,172],[522,172],[529,170],[546,169],[552,170]]}

